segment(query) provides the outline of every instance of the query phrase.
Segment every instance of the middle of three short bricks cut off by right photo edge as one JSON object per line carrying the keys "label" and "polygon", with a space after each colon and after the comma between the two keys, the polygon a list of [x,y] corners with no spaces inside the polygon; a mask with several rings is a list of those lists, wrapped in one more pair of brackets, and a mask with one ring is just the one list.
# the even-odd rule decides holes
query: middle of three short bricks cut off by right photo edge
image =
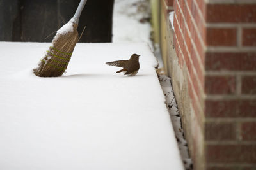
{"label": "middle of three short bricks cut off by right photo edge", "polygon": [[256,76],[244,76],[241,91],[243,94],[256,94]]}

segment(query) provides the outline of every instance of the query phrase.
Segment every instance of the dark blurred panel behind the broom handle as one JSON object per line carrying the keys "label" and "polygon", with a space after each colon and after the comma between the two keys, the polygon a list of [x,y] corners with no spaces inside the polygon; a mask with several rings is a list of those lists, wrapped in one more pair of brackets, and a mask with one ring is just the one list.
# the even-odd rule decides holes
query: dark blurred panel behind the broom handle
{"label": "dark blurred panel behind the broom handle", "polygon": [[[51,42],[55,31],[73,17],[79,2],[0,0],[0,41]],[[111,42],[113,3],[114,0],[86,3],[77,28],[81,33],[86,26],[80,42]]]}

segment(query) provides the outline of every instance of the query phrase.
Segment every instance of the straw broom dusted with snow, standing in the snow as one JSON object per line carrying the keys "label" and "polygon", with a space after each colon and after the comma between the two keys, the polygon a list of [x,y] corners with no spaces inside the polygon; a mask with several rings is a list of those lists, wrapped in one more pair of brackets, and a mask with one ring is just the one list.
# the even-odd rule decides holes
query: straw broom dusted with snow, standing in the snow
{"label": "straw broom dusted with snow, standing in the snow", "polygon": [[86,1],[80,1],[74,17],[57,31],[52,40],[52,45],[47,50],[44,58],[40,60],[38,67],[33,69],[33,73],[36,76],[61,76],[67,69],[72,52],[77,41],[79,41],[77,26]]}

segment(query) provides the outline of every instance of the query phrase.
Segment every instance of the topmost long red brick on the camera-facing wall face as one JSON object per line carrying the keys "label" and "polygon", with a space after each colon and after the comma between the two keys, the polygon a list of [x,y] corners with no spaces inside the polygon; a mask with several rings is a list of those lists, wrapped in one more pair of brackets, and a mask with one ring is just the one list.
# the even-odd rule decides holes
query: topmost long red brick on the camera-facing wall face
{"label": "topmost long red brick on the camera-facing wall face", "polygon": [[256,22],[256,4],[207,4],[206,22]]}

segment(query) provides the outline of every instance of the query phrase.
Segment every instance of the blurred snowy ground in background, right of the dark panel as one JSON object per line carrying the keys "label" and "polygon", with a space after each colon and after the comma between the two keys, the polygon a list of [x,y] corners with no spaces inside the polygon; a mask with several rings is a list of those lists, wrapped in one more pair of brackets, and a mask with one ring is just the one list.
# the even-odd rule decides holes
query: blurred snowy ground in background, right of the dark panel
{"label": "blurred snowy ground in background, right of the dark panel", "polygon": [[144,21],[150,17],[148,1],[115,0],[113,10],[113,42],[144,42],[152,46],[150,41],[151,25]]}

